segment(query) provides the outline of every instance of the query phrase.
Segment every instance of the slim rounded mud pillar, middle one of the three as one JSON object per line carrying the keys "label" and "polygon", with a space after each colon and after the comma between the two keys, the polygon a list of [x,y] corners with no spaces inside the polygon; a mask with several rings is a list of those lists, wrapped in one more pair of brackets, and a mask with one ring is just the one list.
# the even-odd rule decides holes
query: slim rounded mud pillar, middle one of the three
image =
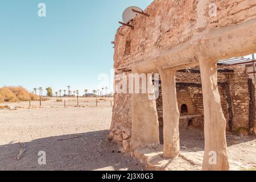
{"label": "slim rounded mud pillar, middle one of the three", "polygon": [[163,94],[164,156],[177,158],[180,153],[179,108],[177,105],[176,81],[173,69],[160,70]]}

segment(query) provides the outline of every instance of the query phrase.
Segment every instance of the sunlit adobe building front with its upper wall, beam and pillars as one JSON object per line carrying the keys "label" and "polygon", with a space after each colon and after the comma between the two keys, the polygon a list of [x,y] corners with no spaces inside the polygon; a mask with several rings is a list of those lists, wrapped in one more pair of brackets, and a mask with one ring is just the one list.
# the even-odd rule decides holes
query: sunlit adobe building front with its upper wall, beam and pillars
{"label": "sunlit adobe building front with its upper wall, beam and pillars", "polygon": [[[209,16],[212,2],[217,5],[216,17]],[[203,107],[193,109],[204,113],[203,169],[228,170],[225,134],[229,121],[226,121],[226,111],[222,110],[223,88],[217,86],[221,80],[221,77],[217,79],[217,61],[256,52],[256,1],[155,0],[145,13],[150,17],[139,15],[130,22],[134,29],[119,27],[115,36],[115,73],[128,74],[130,70],[131,73],[160,73],[164,156],[177,158],[181,107],[177,94],[182,93],[176,92],[179,85],[176,85],[175,75],[182,69],[199,67]],[[150,86],[152,88],[152,84],[148,88]],[[126,151],[159,144],[156,101],[148,100],[149,94],[114,96],[109,137],[123,142]],[[249,97],[244,102],[249,102]],[[211,151],[217,152],[216,164],[209,164]]]}

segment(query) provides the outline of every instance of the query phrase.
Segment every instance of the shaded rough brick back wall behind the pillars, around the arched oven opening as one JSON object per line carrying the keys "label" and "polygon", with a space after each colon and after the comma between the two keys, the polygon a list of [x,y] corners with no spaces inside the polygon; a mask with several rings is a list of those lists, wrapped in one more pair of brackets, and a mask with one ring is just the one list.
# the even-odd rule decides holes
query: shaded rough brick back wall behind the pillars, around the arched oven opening
{"label": "shaded rough brick back wall behind the pillars, around the arched oven opening", "polygon": [[[243,65],[237,66],[222,66],[218,68],[232,69],[233,73],[218,73],[218,82],[228,82],[230,86],[230,94],[232,97],[233,107],[233,126],[234,131],[237,133],[246,134],[249,125],[249,90],[247,84],[247,69]],[[195,68],[197,69],[197,68]],[[200,74],[196,73],[176,73],[176,82],[189,82],[189,83],[201,83]],[[159,89],[161,90],[161,88]],[[180,90],[183,94],[179,94]],[[221,106],[226,118],[229,121],[228,102],[226,100],[225,89],[222,85],[218,85],[218,90],[221,97]],[[188,114],[204,114],[203,106],[203,93],[202,88],[198,87],[184,87],[177,86],[177,102],[179,109],[181,105],[186,104],[188,106]],[[188,96],[189,94],[189,96]],[[162,110],[162,94],[160,92],[159,98],[156,100],[158,106],[158,117],[160,125],[163,125],[163,110]],[[227,123],[228,124],[228,123]],[[229,125],[227,125],[229,130]]]}

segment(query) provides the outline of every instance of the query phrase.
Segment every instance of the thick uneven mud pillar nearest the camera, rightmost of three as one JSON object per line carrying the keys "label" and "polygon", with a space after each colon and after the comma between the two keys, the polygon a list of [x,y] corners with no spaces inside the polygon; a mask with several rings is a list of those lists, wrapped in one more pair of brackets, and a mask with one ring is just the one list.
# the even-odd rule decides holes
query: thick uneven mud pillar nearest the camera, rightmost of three
{"label": "thick uneven mud pillar nearest the camera, rightmost of three", "polygon": [[200,60],[204,100],[204,171],[229,170],[226,146],[226,119],[217,87],[217,64]]}

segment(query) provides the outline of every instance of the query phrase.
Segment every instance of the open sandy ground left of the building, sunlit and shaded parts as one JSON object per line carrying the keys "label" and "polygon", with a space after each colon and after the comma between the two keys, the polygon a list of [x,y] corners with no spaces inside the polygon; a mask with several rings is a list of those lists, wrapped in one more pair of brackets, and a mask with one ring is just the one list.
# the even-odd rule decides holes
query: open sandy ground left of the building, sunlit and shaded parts
{"label": "open sandy ground left of the building, sunlit and shaded parts", "polygon": [[[94,98],[87,100],[91,102],[86,104],[94,103]],[[112,117],[108,101],[102,101],[100,107],[80,108],[64,108],[54,99],[43,104],[56,105],[52,108],[0,110],[1,170],[143,169],[136,160],[124,155],[117,144],[108,141]],[[15,107],[17,104],[9,105]],[[16,160],[22,142],[25,152],[20,160]],[[46,152],[46,165],[38,164],[39,151]]]}

